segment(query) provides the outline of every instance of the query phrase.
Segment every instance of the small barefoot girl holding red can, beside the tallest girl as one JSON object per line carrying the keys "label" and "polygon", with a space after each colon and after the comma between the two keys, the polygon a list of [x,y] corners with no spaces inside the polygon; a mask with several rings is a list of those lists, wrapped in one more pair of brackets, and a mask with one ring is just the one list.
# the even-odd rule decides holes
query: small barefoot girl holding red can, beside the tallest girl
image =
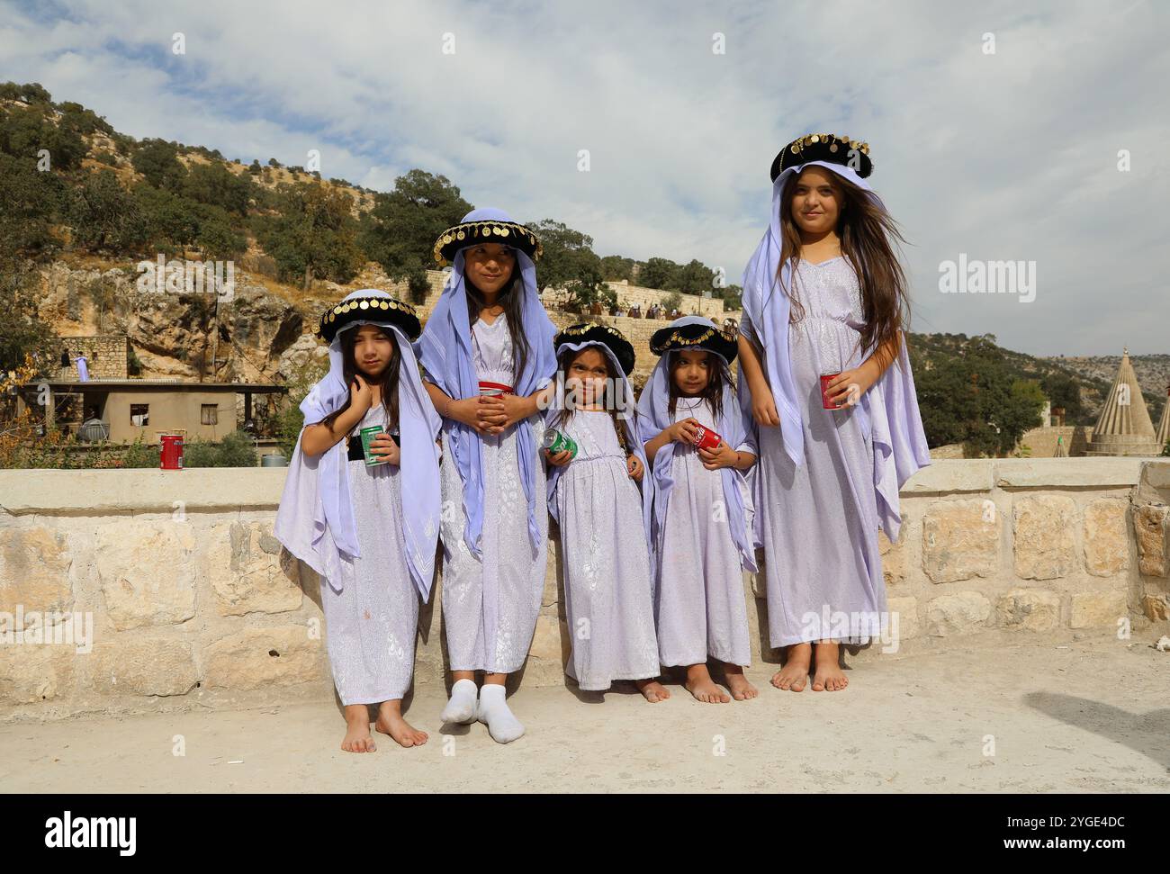
{"label": "small barefoot girl holding red can, beside the tallest girl", "polygon": [[662,359],[638,412],[654,463],[659,655],[662,665],[686,666],[687,690],[698,701],[730,701],[711,680],[708,656],[723,662],[736,701],[752,698],[756,688],[743,675],[751,645],[742,567],[756,571],[756,560],[741,472],[755,463],[756,449],[731,392],[736,337],[684,316],[654,333],[651,351]]}

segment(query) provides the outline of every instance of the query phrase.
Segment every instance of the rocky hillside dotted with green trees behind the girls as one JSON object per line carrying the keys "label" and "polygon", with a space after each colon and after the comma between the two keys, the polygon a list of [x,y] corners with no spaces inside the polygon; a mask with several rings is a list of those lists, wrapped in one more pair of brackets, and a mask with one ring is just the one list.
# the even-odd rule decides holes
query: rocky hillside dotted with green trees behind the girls
{"label": "rocky hillside dotted with green trees behind the girls", "polygon": [[[15,319],[18,302],[29,300],[44,323],[36,343],[49,360],[68,346],[62,338],[125,332],[131,370],[144,377],[285,381],[319,355],[304,335],[326,302],[371,285],[417,303],[433,295],[441,284],[429,269],[434,239],[473,208],[450,180],[424,170],[376,192],[275,158],[246,160],[202,145],[137,140],[92,110],[54,102],[40,85],[0,84],[0,268],[8,266],[14,295],[0,322]],[[601,256],[585,233],[553,219],[529,223],[544,243],[542,283],[567,289],[580,305],[607,300],[605,281],[711,287],[714,273],[695,260]],[[142,295],[136,264],[160,255],[233,263],[235,301],[214,311],[197,295]],[[716,296],[738,309],[737,288]],[[36,346],[27,333],[16,321],[0,323],[0,366],[16,366]],[[910,338],[927,367],[962,357],[966,343],[964,335]],[[994,351],[997,379],[1040,384],[1069,411],[1068,424],[1095,421],[1120,360]],[[1131,360],[1157,421],[1170,356]]]}

